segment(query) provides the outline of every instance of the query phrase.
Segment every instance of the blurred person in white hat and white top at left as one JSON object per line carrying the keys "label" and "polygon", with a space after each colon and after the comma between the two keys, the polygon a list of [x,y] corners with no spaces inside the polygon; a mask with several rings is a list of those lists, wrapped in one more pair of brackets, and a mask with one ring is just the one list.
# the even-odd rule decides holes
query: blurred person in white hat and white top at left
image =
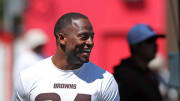
{"label": "blurred person in white hat and white top at left", "polygon": [[48,42],[46,33],[41,29],[30,29],[21,38],[15,43],[13,88],[17,86],[16,78],[20,71],[45,58],[43,48]]}

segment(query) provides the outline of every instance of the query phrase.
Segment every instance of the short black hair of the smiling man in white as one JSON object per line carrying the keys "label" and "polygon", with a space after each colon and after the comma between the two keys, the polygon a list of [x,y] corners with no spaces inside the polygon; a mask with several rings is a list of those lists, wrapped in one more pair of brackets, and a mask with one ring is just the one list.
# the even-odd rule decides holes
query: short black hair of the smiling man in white
{"label": "short black hair of the smiling man in white", "polygon": [[54,27],[54,36],[56,38],[56,42],[57,42],[57,38],[58,38],[57,34],[59,32],[62,32],[62,29],[65,28],[67,25],[72,24],[73,19],[79,19],[79,18],[88,19],[87,16],[85,16],[81,13],[71,12],[71,13],[66,13],[66,14],[62,15],[57,20],[55,27]]}

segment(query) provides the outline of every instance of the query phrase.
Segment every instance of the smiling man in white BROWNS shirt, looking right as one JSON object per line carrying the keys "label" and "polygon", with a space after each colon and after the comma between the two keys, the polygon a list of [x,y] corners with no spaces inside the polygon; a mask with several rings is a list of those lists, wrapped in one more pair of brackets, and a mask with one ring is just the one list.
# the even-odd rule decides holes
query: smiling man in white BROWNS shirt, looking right
{"label": "smiling man in white BROWNS shirt, looking right", "polygon": [[54,29],[54,56],[22,71],[15,90],[22,101],[119,101],[112,74],[89,62],[94,31],[88,18],[67,13]]}

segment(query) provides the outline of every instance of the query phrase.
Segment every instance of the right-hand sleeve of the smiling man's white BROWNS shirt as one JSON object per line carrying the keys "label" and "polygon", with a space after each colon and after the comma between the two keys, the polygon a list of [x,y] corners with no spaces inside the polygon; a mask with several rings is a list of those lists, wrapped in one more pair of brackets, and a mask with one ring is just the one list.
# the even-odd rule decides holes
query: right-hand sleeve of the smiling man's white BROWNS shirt
{"label": "right-hand sleeve of the smiling man's white BROWNS shirt", "polygon": [[102,99],[103,101],[120,101],[118,85],[113,76],[106,81],[106,85],[103,87]]}

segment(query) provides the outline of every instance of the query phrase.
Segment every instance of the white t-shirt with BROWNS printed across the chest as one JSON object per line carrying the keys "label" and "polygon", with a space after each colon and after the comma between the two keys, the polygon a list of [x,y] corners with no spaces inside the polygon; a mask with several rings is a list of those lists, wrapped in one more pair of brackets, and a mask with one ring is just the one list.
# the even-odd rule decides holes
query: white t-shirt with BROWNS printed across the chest
{"label": "white t-shirt with BROWNS printed across the chest", "polygon": [[91,62],[61,70],[51,58],[20,73],[13,101],[120,101],[118,85],[109,72]]}

